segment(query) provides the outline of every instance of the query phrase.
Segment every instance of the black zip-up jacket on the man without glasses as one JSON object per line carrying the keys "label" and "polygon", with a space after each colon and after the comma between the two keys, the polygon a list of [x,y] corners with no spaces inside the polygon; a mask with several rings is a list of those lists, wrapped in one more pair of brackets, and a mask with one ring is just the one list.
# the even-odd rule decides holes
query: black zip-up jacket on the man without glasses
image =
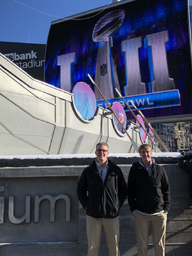
{"label": "black zip-up jacket on the man without glasses", "polygon": [[162,166],[153,163],[148,174],[140,163],[132,164],[128,177],[128,202],[132,212],[168,212],[170,200],[170,184]]}

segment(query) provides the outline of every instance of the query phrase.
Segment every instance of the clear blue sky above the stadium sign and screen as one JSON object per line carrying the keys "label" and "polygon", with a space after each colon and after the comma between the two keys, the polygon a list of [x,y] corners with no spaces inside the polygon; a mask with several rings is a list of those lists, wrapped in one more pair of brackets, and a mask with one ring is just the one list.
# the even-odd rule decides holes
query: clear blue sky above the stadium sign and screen
{"label": "clear blue sky above the stadium sign and screen", "polygon": [[[192,0],[189,2],[191,5]],[[1,0],[0,41],[46,44],[52,21],[111,3],[112,0]]]}

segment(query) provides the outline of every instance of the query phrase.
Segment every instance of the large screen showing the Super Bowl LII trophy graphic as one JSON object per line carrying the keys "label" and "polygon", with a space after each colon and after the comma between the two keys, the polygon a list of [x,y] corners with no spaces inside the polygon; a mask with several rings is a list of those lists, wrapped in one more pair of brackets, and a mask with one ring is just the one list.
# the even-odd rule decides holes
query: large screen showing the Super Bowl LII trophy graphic
{"label": "large screen showing the Super Bowl LII trophy graphic", "polygon": [[[52,22],[45,81],[71,91],[90,84],[97,106],[131,101],[147,118],[192,113],[191,52],[187,0],[121,1]],[[132,108],[133,109],[133,108]]]}

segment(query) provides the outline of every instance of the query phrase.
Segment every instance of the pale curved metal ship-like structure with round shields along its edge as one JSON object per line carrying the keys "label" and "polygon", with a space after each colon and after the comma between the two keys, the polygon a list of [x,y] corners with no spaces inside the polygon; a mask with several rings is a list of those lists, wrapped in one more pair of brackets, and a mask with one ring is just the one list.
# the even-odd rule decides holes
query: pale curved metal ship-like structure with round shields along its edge
{"label": "pale curved metal ship-like structure with round shields along its edge", "polygon": [[[72,93],[33,79],[3,54],[0,77],[1,156],[92,154],[99,141],[111,153],[136,152],[108,109],[97,108],[91,120],[83,119]],[[137,127],[131,122],[127,132],[140,145]]]}

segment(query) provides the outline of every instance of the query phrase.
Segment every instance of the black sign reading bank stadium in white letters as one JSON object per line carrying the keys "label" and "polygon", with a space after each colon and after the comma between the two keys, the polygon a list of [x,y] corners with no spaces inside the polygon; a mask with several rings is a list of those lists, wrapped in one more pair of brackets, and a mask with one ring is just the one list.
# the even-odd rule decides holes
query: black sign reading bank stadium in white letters
{"label": "black sign reading bank stadium in white letters", "polygon": [[33,78],[44,81],[44,44],[0,42],[0,52]]}

